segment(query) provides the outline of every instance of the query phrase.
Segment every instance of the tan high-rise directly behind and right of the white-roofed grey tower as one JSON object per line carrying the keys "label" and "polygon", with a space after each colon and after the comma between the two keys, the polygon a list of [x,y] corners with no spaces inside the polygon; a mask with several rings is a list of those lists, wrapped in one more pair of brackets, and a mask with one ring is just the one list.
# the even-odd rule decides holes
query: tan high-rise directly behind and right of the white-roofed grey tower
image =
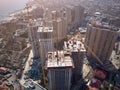
{"label": "tan high-rise directly behind and right of the white-roofed grey tower", "polygon": [[[62,13],[62,12],[61,12]],[[57,11],[52,11],[53,31],[55,36],[55,42],[65,38],[67,33],[67,24],[64,17],[60,17],[61,14]]]}

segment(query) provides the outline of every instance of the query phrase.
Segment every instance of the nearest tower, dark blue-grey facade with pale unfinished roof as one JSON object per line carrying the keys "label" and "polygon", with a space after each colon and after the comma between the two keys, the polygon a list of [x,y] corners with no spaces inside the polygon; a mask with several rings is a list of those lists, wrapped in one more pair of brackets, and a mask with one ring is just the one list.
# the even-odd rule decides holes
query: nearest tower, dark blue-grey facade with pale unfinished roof
{"label": "nearest tower, dark blue-grey facade with pale unfinished roof", "polygon": [[73,68],[70,53],[65,51],[48,52],[46,62],[48,90],[70,90]]}

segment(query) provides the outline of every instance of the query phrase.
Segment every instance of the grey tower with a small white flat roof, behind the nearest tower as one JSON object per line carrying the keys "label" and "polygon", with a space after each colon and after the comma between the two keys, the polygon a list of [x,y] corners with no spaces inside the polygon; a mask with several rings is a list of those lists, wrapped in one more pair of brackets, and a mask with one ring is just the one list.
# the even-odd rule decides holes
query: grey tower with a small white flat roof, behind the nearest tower
{"label": "grey tower with a small white flat roof, behind the nearest tower", "polygon": [[48,51],[54,50],[53,27],[39,27],[38,38],[40,42],[43,63]]}

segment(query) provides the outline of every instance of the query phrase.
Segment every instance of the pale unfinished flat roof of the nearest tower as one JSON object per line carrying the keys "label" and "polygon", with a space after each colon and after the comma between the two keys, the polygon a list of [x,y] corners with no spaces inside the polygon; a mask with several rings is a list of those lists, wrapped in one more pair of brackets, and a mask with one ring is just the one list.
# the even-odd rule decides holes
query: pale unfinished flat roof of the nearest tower
{"label": "pale unfinished flat roof of the nearest tower", "polygon": [[[57,55],[58,52],[58,55]],[[70,53],[65,51],[48,52],[46,68],[74,68]]]}

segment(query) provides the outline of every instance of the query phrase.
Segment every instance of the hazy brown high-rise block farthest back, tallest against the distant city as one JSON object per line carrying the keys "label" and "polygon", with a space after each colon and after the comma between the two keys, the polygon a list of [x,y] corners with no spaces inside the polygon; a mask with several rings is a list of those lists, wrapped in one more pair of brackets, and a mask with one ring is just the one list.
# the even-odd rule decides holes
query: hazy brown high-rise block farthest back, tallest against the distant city
{"label": "hazy brown high-rise block farthest back, tallest against the distant city", "polygon": [[66,17],[67,17],[67,29],[75,30],[82,24],[83,15],[84,15],[84,8],[78,4],[71,4],[65,6],[66,10]]}

